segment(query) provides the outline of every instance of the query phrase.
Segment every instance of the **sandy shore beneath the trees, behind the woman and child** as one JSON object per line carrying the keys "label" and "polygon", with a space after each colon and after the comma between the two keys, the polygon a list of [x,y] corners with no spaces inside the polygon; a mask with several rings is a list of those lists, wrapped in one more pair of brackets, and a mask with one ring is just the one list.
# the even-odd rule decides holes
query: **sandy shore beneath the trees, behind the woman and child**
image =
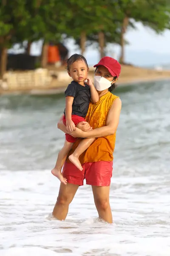
{"label": "sandy shore beneath the trees, behind the woman and child", "polygon": [[[94,67],[89,69],[93,80]],[[118,86],[136,82],[161,81],[170,79],[170,70],[152,70],[130,65],[122,65],[121,75],[116,82]],[[0,94],[58,94],[65,91],[71,78],[64,67],[30,71],[9,71],[0,81]]]}

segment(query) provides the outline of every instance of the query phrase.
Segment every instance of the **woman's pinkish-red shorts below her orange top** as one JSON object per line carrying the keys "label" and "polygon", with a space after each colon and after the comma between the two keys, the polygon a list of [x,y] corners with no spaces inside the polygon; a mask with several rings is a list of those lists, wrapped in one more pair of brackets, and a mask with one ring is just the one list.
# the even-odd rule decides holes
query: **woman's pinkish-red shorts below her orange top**
{"label": "woman's pinkish-red shorts below her orange top", "polygon": [[62,175],[68,183],[82,186],[83,180],[92,186],[110,186],[113,161],[99,161],[94,163],[84,163],[83,170],[80,171],[73,163],[65,162]]}

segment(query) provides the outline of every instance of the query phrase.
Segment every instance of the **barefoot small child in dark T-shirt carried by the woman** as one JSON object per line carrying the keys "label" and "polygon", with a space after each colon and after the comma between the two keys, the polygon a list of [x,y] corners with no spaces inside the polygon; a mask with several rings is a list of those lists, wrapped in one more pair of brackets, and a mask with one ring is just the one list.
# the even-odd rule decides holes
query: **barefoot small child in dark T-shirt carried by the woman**
{"label": "barefoot small child in dark T-shirt carried by the woman", "polygon": [[[79,54],[72,55],[67,61],[68,75],[74,81],[68,85],[65,90],[65,111],[63,123],[66,125],[67,131],[74,131],[79,122],[85,121],[85,116],[88,112],[90,101],[98,102],[99,95],[91,81],[87,78],[88,64],[86,59]],[[79,146],[73,154],[69,156],[69,160],[82,171],[79,156],[82,154],[95,139],[84,139],[79,143]],[[69,134],[65,134],[65,143],[58,154],[57,162],[51,173],[56,176],[62,183],[67,184],[67,180],[62,177],[61,169],[71,150],[76,138]]]}

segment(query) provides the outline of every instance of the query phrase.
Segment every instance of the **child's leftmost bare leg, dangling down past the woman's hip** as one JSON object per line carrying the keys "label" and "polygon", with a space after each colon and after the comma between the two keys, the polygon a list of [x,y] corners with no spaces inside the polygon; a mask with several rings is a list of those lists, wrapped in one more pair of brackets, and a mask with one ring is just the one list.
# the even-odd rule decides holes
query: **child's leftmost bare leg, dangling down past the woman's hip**
{"label": "child's leftmost bare leg, dangling down past the woman's hip", "polygon": [[62,176],[61,169],[62,169],[62,166],[64,165],[64,162],[67,158],[68,152],[71,150],[72,146],[73,146],[73,143],[65,140],[64,146],[59,151],[56,165],[55,165],[54,169],[52,169],[52,171],[51,171],[51,173],[54,176],[56,176],[65,185],[67,184],[67,180]]}

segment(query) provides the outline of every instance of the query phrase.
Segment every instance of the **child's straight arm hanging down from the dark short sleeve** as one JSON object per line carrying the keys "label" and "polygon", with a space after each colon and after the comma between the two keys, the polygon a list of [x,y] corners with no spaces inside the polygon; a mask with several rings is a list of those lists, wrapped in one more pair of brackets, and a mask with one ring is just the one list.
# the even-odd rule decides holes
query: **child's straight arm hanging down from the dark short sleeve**
{"label": "child's straight arm hanging down from the dark short sleeve", "polygon": [[65,119],[66,119],[66,129],[67,129],[67,131],[74,131],[75,130],[75,124],[71,120],[73,100],[74,100],[74,97],[71,97],[71,96],[65,97]]}

